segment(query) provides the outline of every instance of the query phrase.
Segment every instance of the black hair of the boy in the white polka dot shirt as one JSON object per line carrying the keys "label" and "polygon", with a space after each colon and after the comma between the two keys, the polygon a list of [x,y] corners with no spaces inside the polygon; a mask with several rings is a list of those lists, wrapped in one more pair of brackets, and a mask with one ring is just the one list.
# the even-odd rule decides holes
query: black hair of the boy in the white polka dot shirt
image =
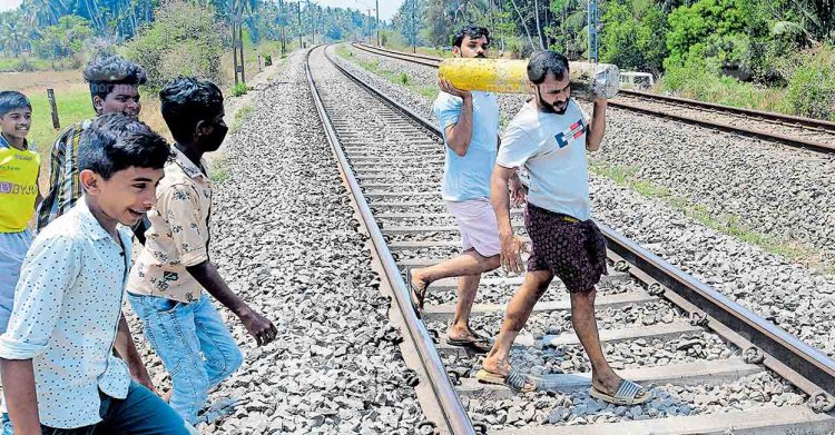
{"label": "black hair of the boy in the white polka dot shirt", "polygon": [[147,126],[121,132],[90,126],[78,144],[78,169],[109,179],[130,167],[163,169],[170,152],[168,142]]}

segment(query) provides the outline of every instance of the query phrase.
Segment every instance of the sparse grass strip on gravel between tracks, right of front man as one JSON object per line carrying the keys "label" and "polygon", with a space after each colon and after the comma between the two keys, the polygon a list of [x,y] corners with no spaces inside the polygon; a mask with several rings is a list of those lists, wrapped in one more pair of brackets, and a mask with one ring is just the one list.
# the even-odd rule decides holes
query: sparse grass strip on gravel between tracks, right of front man
{"label": "sparse grass strip on gravel between tracks, right of front man", "polygon": [[705,205],[676,196],[664,186],[639,179],[638,168],[591,160],[589,170],[596,176],[608,178],[616,185],[627,187],[644,197],[657,199],[670,208],[681,211],[688,218],[716,231],[736,237],[739,240],[755,245],[765,251],[779,255],[789,260],[817,267],[824,274],[835,274],[835,267],[821,263],[821,253],[818,249],[762,234],[745,226],[739,216],[717,214]]}

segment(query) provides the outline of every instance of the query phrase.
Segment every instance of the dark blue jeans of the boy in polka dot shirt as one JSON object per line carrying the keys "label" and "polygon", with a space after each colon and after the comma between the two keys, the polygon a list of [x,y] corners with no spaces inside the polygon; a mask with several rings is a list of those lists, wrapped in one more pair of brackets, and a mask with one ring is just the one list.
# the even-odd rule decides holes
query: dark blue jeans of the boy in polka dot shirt
{"label": "dark blue jeans of the boy in polka dot shirt", "polygon": [[72,429],[57,429],[41,425],[43,435],[92,434],[157,434],[197,435],[190,424],[183,421],[170,406],[150,389],[130,382],[125,399],[112,398],[101,392],[101,422]]}

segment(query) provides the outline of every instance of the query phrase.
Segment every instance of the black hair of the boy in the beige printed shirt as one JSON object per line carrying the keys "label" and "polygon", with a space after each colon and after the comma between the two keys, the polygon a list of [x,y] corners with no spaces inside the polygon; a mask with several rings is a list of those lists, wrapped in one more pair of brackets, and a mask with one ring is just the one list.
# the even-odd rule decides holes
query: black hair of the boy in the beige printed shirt
{"label": "black hair of the boy in the beige printed shirt", "polygon": [[163,119],[174,139],[190,140],[199,121],[212,120],[224,108],[220,89],[208,80],[178,77],[159,91]]}

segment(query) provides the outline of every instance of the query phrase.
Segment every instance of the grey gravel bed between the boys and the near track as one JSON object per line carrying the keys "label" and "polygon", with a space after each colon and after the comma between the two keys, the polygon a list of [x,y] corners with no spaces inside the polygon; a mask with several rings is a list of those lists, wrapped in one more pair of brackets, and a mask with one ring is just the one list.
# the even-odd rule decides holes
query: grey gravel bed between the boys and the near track
{"label": "grey gravel bed between the boys and the near track", "polygon": [[[371,271],[365,236],[325,139],[295,52],[226,144],[229,178],[214,186],[213,261],[278,328],[255,347],[220,308],[246,355],[209,396],[238,398],[204,434],[412,434],[424,419]],[[217,305],[217,304],[216,304]],[[132,322],[139,337],[139,325]],[[157,386],[167,376],[144,340]]]}

